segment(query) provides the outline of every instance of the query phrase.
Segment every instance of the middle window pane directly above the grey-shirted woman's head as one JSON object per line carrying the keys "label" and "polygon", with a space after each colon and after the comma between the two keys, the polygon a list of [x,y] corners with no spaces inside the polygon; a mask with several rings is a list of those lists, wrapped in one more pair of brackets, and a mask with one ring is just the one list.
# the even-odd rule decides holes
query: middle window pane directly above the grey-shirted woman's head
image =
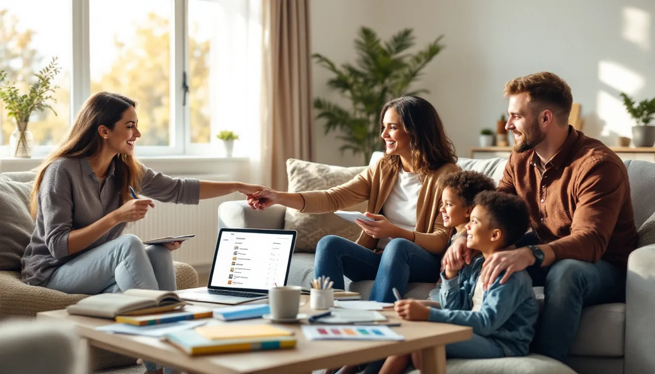
{"label": "middle window pane directly above the grey-shirted woman's head", "polygon": [[138,103],[140,145],[170,145],[169,0],[92,0],[91,94],[116,92]]}

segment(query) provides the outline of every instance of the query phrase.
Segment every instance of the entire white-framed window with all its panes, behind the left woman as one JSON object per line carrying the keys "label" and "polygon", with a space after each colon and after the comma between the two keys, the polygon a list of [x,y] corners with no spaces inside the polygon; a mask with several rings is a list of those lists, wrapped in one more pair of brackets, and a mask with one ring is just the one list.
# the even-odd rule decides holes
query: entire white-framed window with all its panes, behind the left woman
{"label": "entire white-framed window with all its panes, behind the left woman", "polygon": [[[0,0],[0,69],[21,81],[52,56],[62,67],[58,115],[29,124],[33,155],[52,151],[100,91],[138,102],[140,156],[220,155],[219,130],[242,147],[258,141],[260,18],[259,0]],[[15,127],[6,117],[0,102],[0,157]]]}

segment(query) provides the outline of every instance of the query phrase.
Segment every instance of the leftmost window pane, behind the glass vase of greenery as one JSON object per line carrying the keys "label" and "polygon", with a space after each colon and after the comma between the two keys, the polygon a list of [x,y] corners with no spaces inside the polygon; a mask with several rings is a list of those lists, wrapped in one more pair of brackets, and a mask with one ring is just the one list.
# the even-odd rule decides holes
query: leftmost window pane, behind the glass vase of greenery
{"label": "leftmost window pane, behind the glass vase of greenery", "polygon": [[[57,102],[50,102],[57,115],[46,109],[34,111],[29,119],[28,130],[34,135],[35,145],[55,145],[68,130],[71,45],[62,41],[71,40],[70,24],[69,0],[0,0],[0,70],[7,71],[9,81],[16,82],[22,94],[35,80],[33,74],[53,57],[58,57],[62,68],[53,82],[60,87],[53,95]],[[8,145],[16,122],[7,116],[2,102],[0,122],[0,145]]]}

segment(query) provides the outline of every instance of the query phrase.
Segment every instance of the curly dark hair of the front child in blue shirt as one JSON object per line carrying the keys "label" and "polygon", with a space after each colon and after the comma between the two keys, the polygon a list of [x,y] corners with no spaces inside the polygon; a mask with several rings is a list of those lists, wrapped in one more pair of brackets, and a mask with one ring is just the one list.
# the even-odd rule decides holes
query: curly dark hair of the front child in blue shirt
{"label": "curly dark hair of the front child in blue shirt", "polygon": [[477,194],[475,203],[489,212],[491,226],[502,231],[504,247],[515,244],[527,231],[530,221],[528,206],[519,196],[483,191]]}

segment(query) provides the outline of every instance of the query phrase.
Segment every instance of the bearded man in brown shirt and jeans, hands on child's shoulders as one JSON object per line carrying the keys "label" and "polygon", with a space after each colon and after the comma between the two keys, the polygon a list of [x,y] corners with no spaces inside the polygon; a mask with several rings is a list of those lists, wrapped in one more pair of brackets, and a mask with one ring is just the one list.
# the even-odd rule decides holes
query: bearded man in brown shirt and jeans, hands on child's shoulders
{"label": "bearded man in brown shirt and jeans, hands on child's shoulders", "polygon": [[517,249],[489,257],[480,279],[487,289],[498,276],[502,283],[527,269],[545,295],[535,346],[563,361],[582,308],[625,297],[627,257],[637,248],[627,170],[603,143],[568,124],[571,88],[557,75],[514,79],[505,96],[515,142],[498,191],[525,199],[532,233]]}

